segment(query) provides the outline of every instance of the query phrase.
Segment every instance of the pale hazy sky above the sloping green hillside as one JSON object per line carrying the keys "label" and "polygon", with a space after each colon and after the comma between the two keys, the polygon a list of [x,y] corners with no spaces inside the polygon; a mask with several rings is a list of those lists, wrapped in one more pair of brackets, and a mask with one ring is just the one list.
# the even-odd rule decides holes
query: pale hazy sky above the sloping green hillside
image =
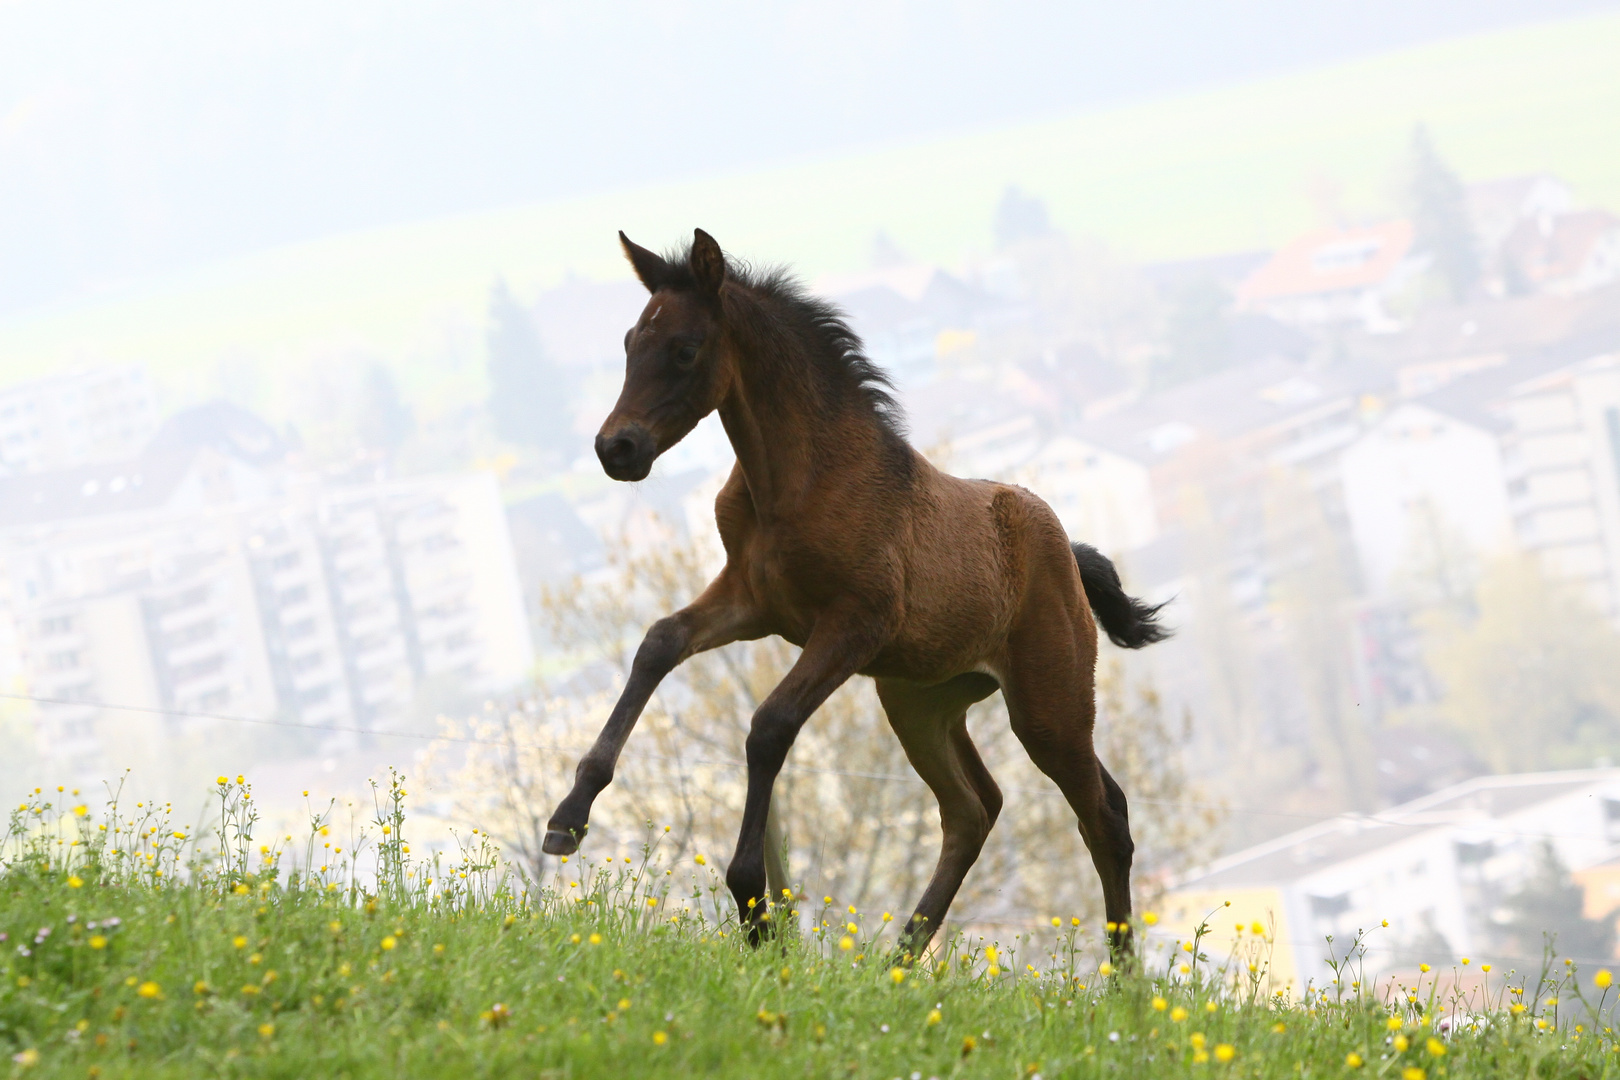
{"label": "pale hazy sky above the sloping green hillside", "polygon": [[340,230],[1615,6],[0,0],[0,316]]}

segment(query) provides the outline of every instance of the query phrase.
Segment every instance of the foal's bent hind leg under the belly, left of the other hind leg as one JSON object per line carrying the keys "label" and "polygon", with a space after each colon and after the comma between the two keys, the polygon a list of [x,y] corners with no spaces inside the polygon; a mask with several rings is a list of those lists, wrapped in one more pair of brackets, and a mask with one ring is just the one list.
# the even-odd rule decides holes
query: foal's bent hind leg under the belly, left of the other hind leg
{"label": "foal's bent hind leg under the belly, left of the other hind leg", "polygon": [[1001,813],[1001,789],[967,737],[967,706],[990,696],[995,688],[991,677],[977,674],[959,675],[938,687],[878,680],[883,711],[917,776],[940,801],[944,832],[933,878],[901,934],[901,950],[910,957],[920,955],[940,929]]}

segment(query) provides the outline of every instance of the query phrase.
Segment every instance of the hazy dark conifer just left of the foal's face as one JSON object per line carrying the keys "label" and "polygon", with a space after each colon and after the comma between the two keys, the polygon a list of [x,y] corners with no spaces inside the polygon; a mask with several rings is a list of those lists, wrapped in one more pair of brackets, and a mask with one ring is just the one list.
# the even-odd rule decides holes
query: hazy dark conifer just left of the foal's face
{"label": "hazy dark conifer just left of the foal's face", "polygon": [[489,415],[507,442],[543,450],[573,444],[569,381],[507,283],[489,291]]}

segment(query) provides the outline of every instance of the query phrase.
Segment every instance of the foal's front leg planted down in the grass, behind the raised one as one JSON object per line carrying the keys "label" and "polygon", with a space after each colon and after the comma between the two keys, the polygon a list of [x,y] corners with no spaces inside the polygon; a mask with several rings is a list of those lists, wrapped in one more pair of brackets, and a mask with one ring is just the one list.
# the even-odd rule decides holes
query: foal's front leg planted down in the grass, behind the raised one
{"label": "foal's front leg planted down in the grass, behind the raised one", "polygon": [[747,742],[748,797],[737,853],[726,868],[726,886],[737,900],[737,918],[748,928],[750,944],[760,942],[766,916],[765,821],[776,774],[810,714],[876,653],[878,635],[870,627],[823,617],[792,670],[753,714]]}

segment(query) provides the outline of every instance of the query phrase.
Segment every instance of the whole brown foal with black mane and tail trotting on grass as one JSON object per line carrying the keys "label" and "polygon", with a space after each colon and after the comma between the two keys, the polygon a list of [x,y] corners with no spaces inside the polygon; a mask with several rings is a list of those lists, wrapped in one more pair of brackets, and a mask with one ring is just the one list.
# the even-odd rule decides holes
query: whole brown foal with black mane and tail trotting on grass
{"label": "whole brown foal with black mane and tail trotting on grass", "polygon": [[1014,733],[1079,818],[1108,921],[1128,926],[1126,798],[1092,748],[1097,625],[1139,648],[1165,636],[1157,609],[1126,596],[1095,549],[1071,546],[1030,492],[948,476],[912,450],[888,379],[838,309],[782,274],[727,262],[703,230],[672,257],[619,240],[651,298],[625,334],[624,390],[596,455],[614,479],[643,479],[719,410],[737,452],[714,500],[726,567],[646,633],[548,823],[546,852],[578,847],[664,675],[705,649],[779,635],[802,653],[753,714],[742,831],[726,870],[750,939],[766,928],[771,787],[799,729],[852,675],[876,678],[889,725],[940,800],[944,842],[906,952],[928,944],[1001,811],[966,724],[967,708],[998,688]]}

